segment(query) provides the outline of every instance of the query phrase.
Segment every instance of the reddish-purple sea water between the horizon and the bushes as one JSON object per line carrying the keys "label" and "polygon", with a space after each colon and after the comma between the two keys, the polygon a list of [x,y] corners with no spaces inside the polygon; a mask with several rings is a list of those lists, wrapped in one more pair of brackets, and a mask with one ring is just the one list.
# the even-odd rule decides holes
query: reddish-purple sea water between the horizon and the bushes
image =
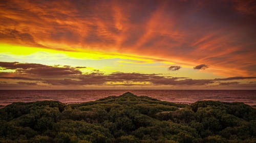
{"label": "reddish-purple sea water between the horizon and the bushes", "polygon": [[256,90],[0,90],[0,105],[42,100],[57,100],[67,104],[81,103],[119,96],[125,92],[175,103],[189,104],[214,100],[256,105]]}

